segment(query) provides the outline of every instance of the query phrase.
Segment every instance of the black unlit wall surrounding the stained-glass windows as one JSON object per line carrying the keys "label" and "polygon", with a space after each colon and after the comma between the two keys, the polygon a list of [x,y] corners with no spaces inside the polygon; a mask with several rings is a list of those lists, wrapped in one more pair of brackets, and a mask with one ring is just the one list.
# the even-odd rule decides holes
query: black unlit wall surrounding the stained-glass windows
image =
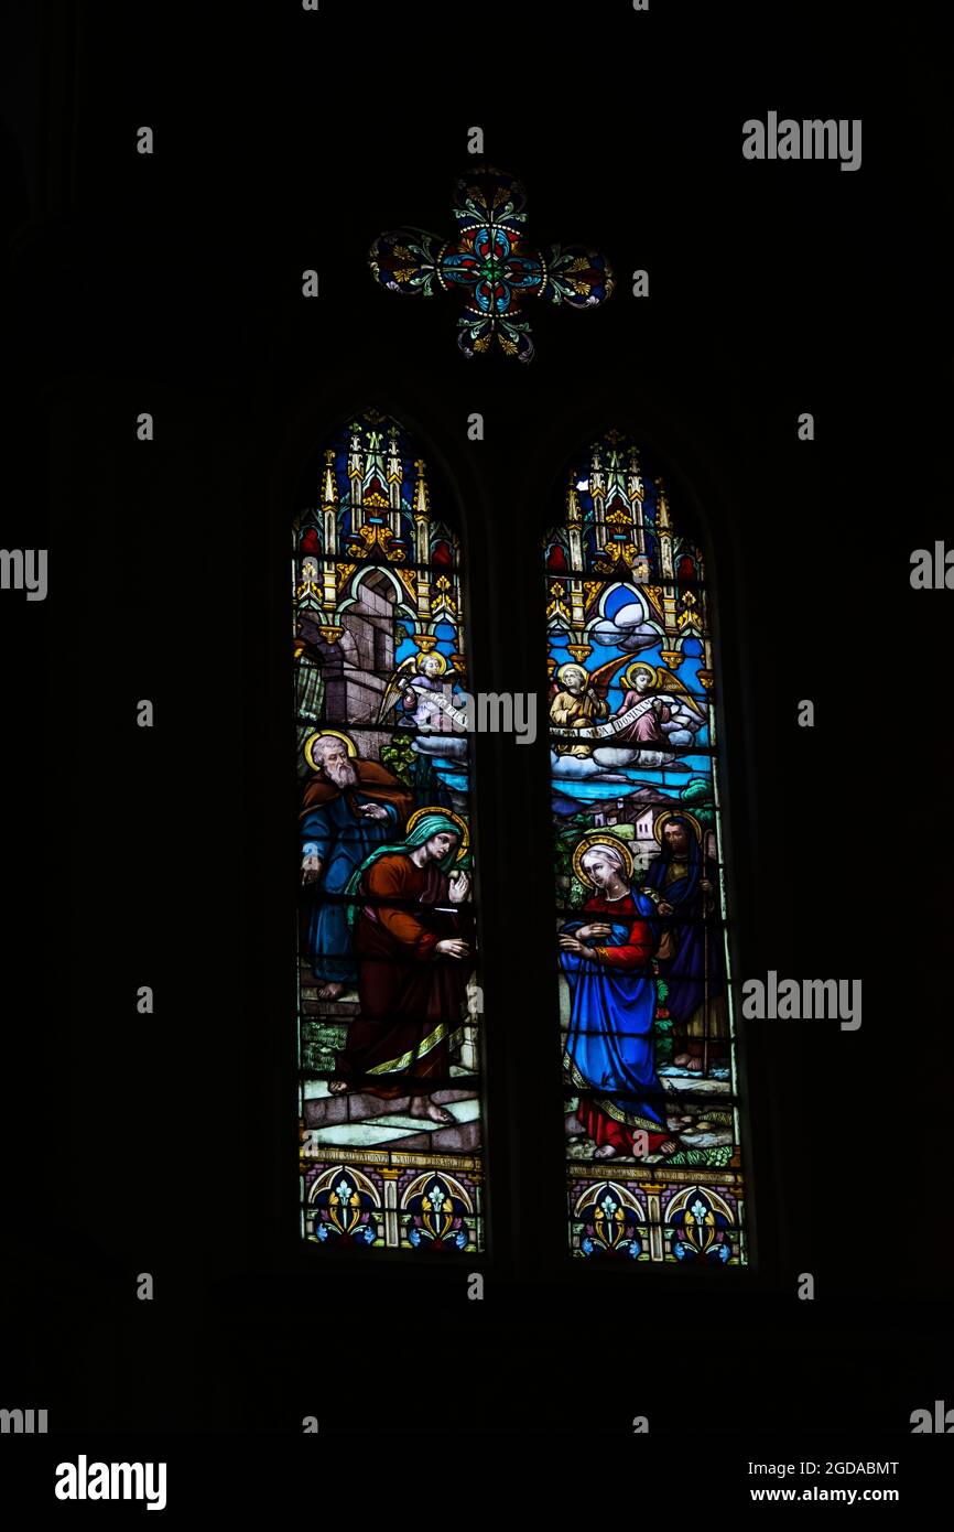
{"label": "black unlit wall surrounding the stained-glass windows", "polygon": [[[0,541],[47,547],[51,576],[44,604],[0,596],[0,1403],[89,1442],[303,1414],[583,1442],[648,1414],[689,1455],[856,1429],[873,1457],[954,1403],[954,597],[910,587],[911,550],[954,539],[951,90],[890,14],[9,8]],[[861,170],[744,161],[769,110],[862,118]],[[450,300],[366,267],[380,230],[449,230],[473,124],[530,236],[617,274],[597,313],[530,311],[527,368],[466,362]],[[859,1031],[743,1023],[747,1272],[564,1256],[542,737],[476,740],[487,1296],[459,1267],[332,1270],[299,1244],[286,529],[303,463],[364,404],[464,507],[473,689],[539,689],[568,450],[616,423],[700,509],[737,973],[864,982]]]}

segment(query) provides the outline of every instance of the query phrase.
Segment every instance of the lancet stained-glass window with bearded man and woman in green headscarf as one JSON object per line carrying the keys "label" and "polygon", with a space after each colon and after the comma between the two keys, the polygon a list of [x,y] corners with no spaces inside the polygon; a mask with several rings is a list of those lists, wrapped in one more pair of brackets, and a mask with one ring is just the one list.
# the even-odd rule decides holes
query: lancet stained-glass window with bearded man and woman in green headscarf
{"label": "lancet stained-glass window with bearded man and woman in green headscarf", "polygon": [[482,1250],[459,539],[395,420],[309,464],[292,593],[302,1238]]}

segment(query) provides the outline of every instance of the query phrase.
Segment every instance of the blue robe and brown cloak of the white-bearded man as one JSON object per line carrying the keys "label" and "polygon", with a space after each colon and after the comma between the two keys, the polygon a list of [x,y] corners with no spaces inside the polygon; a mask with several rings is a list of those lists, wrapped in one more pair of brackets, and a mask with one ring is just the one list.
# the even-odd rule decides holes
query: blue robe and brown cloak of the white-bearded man
{"label": "blue robe and brown cloak of the white-bearded man", "polygon": [[[345,893],[361,863],[395,840],[413,803],[409,789],[384,766],[360,757],[354,757],[351,764],[358,777],[352,787],[338,787],[315,772],[302,806],[302,855],[322,858],[308,918],[306,953],[315,979],[328,984],[355,984],[358,970],[351,956],[348,907],[323,895]],[[386,817],[372,820],[363,815],[363,803],[380,804],[387,810]]]}

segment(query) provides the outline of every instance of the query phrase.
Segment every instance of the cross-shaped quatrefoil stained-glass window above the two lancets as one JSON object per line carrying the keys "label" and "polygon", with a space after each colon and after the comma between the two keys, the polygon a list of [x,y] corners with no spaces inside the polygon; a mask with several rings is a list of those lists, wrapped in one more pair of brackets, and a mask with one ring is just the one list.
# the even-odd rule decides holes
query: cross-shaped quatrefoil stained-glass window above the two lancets
{"label": "cross-shaped quatrefoil stained-glass window above the two lancets", "polygon": [[585,245],[527,244],[521,182],[493,165],[478,165],[455,184],[456,234],[441,239],[423,228],[378,234],[369,265],[392,293],[432,297],[441,288],[467,303],[458,319],[458,345],[466,357],[488,351],[493,337],[508,355],[530,362],[530,322],[518,319],[528,297],[571,308],[596,308],[613,293],[603,254]]}

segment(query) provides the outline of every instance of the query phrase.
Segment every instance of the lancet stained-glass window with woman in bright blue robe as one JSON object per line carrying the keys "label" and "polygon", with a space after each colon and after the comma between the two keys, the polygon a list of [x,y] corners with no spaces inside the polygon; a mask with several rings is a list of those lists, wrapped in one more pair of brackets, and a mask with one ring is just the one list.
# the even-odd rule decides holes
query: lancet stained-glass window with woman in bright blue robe
{"label": "lancet stained-glass window with woman in bright blue robe", "polygon": [[568,1239],[746,1264],[703,559],[620,432],[564,483],[545,587]]}

